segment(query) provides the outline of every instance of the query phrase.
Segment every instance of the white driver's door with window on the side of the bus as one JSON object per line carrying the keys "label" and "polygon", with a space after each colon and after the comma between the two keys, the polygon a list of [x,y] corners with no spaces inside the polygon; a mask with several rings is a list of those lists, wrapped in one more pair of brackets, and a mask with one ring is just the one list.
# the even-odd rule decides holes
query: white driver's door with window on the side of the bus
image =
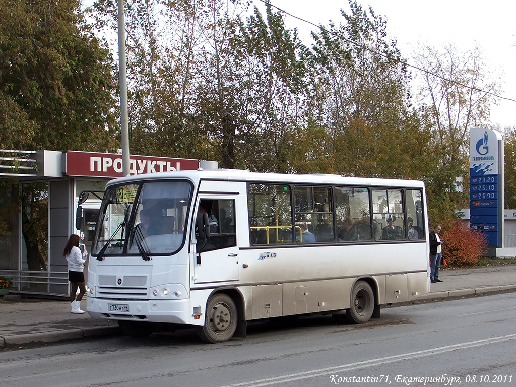
{"label": "white driver's door with window on the side of the bus", "polygon": [[[200,197],[197,213],[206,212],[210,237],[197,240],[194,256],[195,283],[237,281],[238,247],[236,244],[236,196]],[[196,233],[197,237],[197,233]]]}

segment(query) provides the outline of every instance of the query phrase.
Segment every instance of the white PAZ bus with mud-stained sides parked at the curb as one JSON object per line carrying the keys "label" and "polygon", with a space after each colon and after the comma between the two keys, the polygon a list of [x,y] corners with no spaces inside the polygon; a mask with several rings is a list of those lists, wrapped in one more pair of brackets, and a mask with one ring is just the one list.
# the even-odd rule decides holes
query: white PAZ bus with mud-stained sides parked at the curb
{"label": "white PAZ bus with mud-stained sides parked at the curb", "polygon": [[[150,220],[150,221],[149,221]],[[129,335],[331,314],[361,323],[429,290],[425,186],[328,174],[198,170],[106,186],[87,311]]]}

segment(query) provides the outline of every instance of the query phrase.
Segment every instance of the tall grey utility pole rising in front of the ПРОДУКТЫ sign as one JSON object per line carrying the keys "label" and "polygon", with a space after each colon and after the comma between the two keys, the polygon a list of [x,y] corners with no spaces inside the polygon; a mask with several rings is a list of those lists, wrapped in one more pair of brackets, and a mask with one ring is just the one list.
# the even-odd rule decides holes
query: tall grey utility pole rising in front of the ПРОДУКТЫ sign
{"label": "tall grey utility pole rising in front of the \u041f\u0420\u041e\u0414\u0423\u041a\u0422\u042b sign", "polygon": [[129,175],[129,120],[127,118],[127,71],[125,67],[124,0],[118,0],[118,61],[120,77],[120,128],[122,131],[122,174]]}

